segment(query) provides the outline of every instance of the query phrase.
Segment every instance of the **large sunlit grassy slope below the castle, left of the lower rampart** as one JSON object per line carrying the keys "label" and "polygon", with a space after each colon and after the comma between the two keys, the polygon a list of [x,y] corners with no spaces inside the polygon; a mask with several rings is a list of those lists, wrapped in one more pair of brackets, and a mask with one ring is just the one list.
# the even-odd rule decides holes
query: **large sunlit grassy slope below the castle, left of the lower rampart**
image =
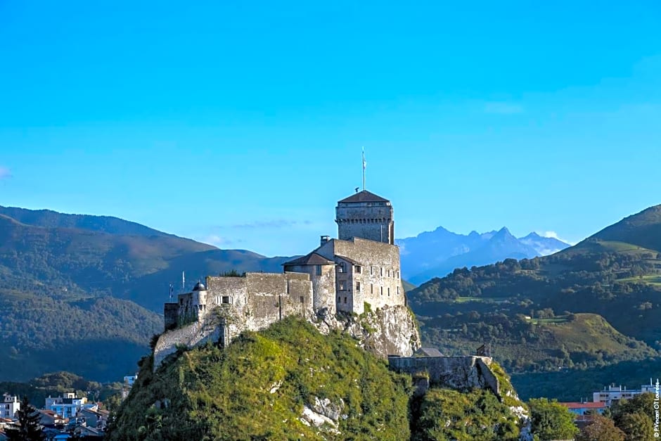
{"label": "large sunlit grassy slope below the castle, left of the lower rampart", "polygon": [[[345,403],[341,435],[323,430],[326,439],[409,437],[410,379],[351,338],[321,335],[293,318],[245,333],[224,352],[198,347],[155,374],[150,364],[143,359],[109,440],[320,439],[300,421],[314,397]],[[151,408],[165,399],[167,409]]]}

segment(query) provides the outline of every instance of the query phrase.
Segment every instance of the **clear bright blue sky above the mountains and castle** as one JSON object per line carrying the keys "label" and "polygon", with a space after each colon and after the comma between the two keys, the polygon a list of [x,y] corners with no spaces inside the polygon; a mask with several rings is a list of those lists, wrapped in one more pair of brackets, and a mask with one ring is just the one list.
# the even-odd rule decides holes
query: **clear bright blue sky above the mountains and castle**
{"label": "clear bright blue sky above the mountains and castle", "polygon": [[579,241],[661,203],[661,4],[627,3],[3,1],[0,205],[300,254],[364,146],[398,237]]}

